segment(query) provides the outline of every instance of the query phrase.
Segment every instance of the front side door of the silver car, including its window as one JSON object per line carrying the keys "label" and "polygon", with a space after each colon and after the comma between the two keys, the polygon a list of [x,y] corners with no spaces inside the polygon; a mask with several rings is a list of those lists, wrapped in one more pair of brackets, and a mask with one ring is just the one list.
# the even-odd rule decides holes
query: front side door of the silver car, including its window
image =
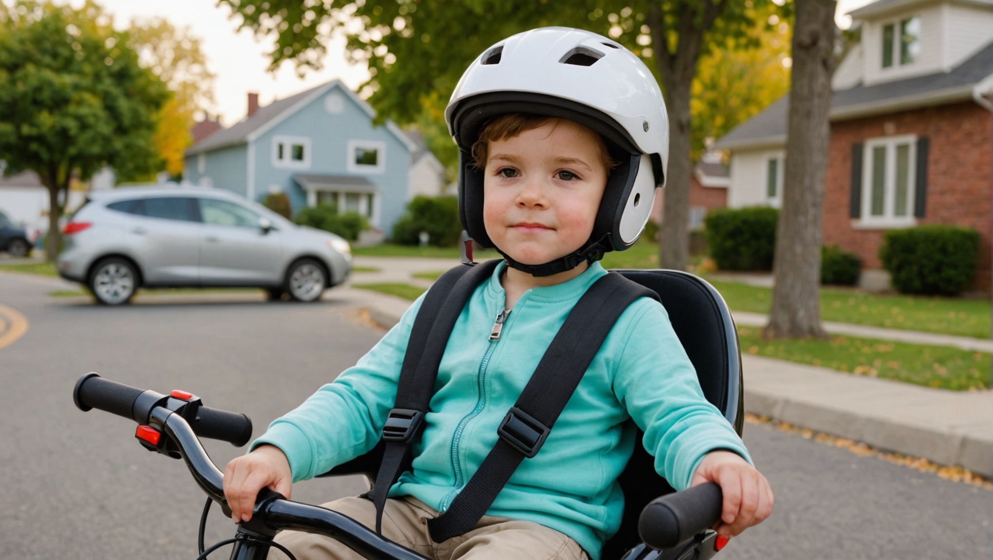
{"label": "front side door of the silver car, including its window", "polygon": [[200,280],[204,285],[277,285],[282,282],[282,232],[259,228],[259,215],[240,204],[198,198],[204,230]]}

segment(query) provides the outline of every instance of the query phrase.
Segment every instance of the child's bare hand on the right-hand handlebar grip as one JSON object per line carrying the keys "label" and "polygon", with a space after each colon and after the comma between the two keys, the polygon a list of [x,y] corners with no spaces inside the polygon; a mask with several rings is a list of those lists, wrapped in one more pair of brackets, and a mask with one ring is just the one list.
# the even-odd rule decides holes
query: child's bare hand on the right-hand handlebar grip
{"label": "child's bare hand on the right-hand handlebar grip", "polygon": [[717,533],[731,538],[758,525],[773,512],[773,489],[755,467],[737,453],[711,451],[700,462],[690,486],[717,483],[724,494],[724,508]]}

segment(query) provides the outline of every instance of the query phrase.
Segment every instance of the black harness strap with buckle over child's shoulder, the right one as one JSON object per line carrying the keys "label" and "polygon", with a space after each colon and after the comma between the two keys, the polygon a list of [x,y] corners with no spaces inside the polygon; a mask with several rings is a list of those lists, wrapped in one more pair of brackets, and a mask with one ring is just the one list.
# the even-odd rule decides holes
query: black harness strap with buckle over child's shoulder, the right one
{"label": "black harness strap with buckle over child's shoulder, the right one", "polygon": [[517,402],[497,428],[497,445],[443,514],[428,520],[431,539],[442,542],[472,529],[525,457],[534,457],[614,323],[651,289],[617,273],[597,280],[576,303]]}

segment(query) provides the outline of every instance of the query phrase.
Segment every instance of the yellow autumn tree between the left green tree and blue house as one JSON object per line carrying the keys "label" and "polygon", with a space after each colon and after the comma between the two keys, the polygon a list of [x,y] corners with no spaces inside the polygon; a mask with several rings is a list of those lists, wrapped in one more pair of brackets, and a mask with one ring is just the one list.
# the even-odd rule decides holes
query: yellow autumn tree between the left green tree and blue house
{"label": "yellow autumn tree between the left green tree and blue house", "polygon": [[215,75],[207,67],[200,39],[190,34],[189,27],[176,28],[163,18],[132,20],[128,34],[141,64],[173,92],[159,113],[155,144],[166,170],[179,176],[183,152],[193,143],[194,117],[213,106]]}

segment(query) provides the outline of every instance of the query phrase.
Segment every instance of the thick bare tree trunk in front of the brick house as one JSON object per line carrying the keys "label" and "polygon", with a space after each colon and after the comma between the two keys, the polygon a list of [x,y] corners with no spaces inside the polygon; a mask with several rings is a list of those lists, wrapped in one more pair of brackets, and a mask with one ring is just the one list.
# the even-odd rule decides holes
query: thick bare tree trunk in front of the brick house
{"label": "thick bare tree trunk in front of the brick house", "polygon": [[767,337],[824,337],[820,248],[834,70],[834,0],[798,0],[792,40],[782,211]]}

